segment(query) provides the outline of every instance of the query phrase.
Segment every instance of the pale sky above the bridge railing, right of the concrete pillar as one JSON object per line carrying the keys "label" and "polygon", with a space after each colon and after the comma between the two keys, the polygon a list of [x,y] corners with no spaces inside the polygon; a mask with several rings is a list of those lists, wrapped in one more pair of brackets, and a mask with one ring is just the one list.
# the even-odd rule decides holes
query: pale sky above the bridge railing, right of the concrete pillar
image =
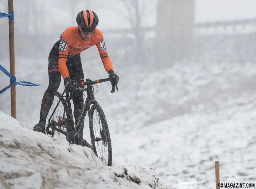
{"label": "pale sky above the bridge railing, right of the concrete pillar", "polygon": [[256,18],[256,0],[196,0],[195,21]]}

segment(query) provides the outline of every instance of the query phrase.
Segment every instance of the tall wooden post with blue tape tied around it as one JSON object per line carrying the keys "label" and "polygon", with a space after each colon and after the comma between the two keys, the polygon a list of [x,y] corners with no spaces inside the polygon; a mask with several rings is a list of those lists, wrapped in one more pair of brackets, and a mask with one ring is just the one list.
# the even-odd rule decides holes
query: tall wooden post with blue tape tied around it
{"label": "tall wooden post with blue tape tied around it", "polygon": [[[8,0],[9,13],[13,12],[13,0]],[[14,20],[9,19],[9,49],[10,49],[10,73],[15,76],[15,54],[14,54]],[[16,90],[11,86],[11,115],[16,119]]]}

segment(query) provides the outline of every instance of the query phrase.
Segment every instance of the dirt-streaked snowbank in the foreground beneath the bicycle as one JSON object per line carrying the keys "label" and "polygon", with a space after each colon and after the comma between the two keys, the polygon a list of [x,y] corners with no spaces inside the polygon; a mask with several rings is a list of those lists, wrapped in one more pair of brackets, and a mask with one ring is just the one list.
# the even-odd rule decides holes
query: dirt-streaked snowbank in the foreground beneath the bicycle
{"label": "dirt-streaked snowbank in the foreground beneath the bicycle", "polygon": [[1,189],[163,188],[150,168],[104,167],[93,151],[31,131],[0,111]]}

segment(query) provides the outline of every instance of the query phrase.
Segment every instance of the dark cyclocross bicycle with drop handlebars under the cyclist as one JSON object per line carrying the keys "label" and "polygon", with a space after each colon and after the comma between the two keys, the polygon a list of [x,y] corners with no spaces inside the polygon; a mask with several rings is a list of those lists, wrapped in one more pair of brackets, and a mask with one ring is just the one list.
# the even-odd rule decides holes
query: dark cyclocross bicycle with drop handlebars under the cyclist
{"label": "dark cyclocross bicycle with drop handlebars under the cyclist", "polygon": [[[93,148],[92,150],[95,153],[95,155],[101,159],[103,165],[112,166],[112,146],[111,146],[108,123],[106,121],[106,117],[104,115],[102,108],[100,107],[99,103],[95,100],[95,97],[94,97],[95,93],[97,93],[98,90],[94,93],[94,87],[93,87],[93,85],[96,85],[102,82],[107,82],[107,81],[110,81],[109,78],[95,80],[95,81],[86,79],[86,82],[84,82],[84,86],[79,86],[77,84],[75,85],[74,90],[83,90],[87,92],[87,97],[84,102],[81,116],[79,117],[79,120],[77,121],[76,125],[74,123],[71,102],[70,102],[73,98],[74,90],[68,91],[68,89],[65,88],[62,94],[56,91],[54,96],[56,96],[59,100],[56,107],[53,110],[53,113],[48,118],[48,124],[45,131],[47,135],[52,135],[52,137],[55,136],[55,132],[57,132],[58,134],[63,134],[64,136],[66,136],[66,140],[69,143],[81,145],[79,143],[79,139],[80,139],[79,133],[80,133],[81,127],[84,125],[84,119],[88,112],[90,139],[91,139],[91,146]],[[111,93],[115,92],[115,88],[118,91],[117,85],[116,84],[112,85]],[[70,95],[69,95],[69,92],[70,92]],[[65,96],[65,93],[66,93],[66,96]],[[66,97],[66,99],[64,99],[64,97]],[[54,120],[53,116],[56,113],[57,107],[59,106],[60,103],[64,107],[63,114],[61,116],[60,115],[57,116],[57,120]],[[100,127],[99,137],[97,137],[97,135],[95,137],[94,124],[93,124],[94,123],[93,118],[94,118],[94,114],[96,114],[95,113],[96,110],[98,111],[98,115],[99,115],[98,122],[101,123],[102,125],[102,127]],[[50,131],[50,128],[51,128],[51,131]],[[98,143],[100,141],[103,142],[104,147],[108,148],[108,155],[107,155],[108,157],[106,157],[107,160],[103,159],[102,156],[98,156],[98,152],[97,152],[98,148],[96,149],[95,142],[97,142],[97,147],[98,147]]]}

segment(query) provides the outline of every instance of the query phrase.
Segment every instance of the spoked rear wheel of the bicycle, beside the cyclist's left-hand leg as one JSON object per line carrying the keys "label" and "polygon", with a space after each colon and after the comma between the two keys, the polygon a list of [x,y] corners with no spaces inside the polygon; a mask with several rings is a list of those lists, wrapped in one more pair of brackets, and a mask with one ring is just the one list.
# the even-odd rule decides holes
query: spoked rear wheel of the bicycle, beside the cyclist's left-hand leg
{"label": "spoked rear wheel of the bicycle, beside the cyclist's left-hand leg", "polygon": [[[60,103],[58,104],[58,107],[56,108],[51,120],[49,120],[49,118],[52,115],[59,100],[60,100]],[[64,98],[61,98],[60,92],[56,91],[54,93],[53,104],[52,104],[51,109],[49,110],[49,113],[47,115],[46,125],[51,124],[50,122],[54,121],[54,122],[58,123],[58,124],[55,124],[56,128],[66,132],[67,131],[67,123],[68,123],[67,112],[68,112],[68,105],[66,103],[66,100]],[[46,126],[46,134],[52,135],[52,137],[56,137],[56,138],[63,138],[63,137],[66,138],[65,135],[63,135],[62,133],[59,133],[58,131],[52,129],[49,126]],[[57,134],[57,136],[56,136],[56,134]]]}

